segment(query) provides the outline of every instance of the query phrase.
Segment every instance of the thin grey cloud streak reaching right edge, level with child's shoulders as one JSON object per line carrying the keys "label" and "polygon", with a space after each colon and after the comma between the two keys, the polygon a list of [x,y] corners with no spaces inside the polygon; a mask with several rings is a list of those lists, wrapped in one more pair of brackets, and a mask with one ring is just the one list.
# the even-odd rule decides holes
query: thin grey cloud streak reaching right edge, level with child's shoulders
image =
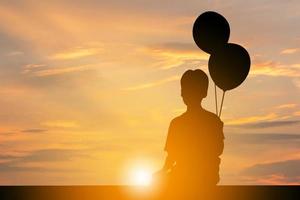
{"label": "thin grey cloud streak reaching right edge, level with child's shoulders", "polygon": [[274,121],[265,121],[257,123],[245,123],[239,125],[233,125],[239,128],[271,128],[271,127],[280,127],[280,126],[292,126],[300,124],[300,120],[274,120]]}

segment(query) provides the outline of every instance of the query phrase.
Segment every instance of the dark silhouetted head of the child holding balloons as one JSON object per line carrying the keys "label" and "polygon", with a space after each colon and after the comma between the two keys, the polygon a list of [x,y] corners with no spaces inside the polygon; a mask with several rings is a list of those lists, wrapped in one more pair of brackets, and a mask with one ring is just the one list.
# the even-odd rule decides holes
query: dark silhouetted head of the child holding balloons
{"label": "dark silhouetted head of the child holding balloons", "polygon": [[200,69],[187,70],[181,77],[181,96],[187,106],[197,106],[207,95],[208,77]]}

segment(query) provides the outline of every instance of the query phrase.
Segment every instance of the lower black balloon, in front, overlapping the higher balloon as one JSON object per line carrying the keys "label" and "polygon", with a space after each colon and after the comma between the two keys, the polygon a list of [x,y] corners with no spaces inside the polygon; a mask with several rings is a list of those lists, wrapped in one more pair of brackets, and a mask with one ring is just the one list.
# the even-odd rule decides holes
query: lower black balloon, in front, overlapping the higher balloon
{"label": "lower black balloon, in front, overlapping the higher balloon", "polygon": [[209,73],[215,84],[223,91],[239,86],[250,70],[250,56],[246,49],[228,43],[209,58]]}

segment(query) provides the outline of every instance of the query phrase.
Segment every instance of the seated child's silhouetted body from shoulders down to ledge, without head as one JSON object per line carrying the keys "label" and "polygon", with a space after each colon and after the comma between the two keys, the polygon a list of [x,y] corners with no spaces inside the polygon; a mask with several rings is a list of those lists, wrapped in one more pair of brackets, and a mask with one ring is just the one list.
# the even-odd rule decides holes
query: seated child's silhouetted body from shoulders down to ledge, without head
{"label": "seated child's silhouetted body from shoulders down to ledge, without head", "polygon": [[202,108],[172,120],[165,150],[176,161],[171,179],[179,183],[215,185],[223,151],[223,123]]}

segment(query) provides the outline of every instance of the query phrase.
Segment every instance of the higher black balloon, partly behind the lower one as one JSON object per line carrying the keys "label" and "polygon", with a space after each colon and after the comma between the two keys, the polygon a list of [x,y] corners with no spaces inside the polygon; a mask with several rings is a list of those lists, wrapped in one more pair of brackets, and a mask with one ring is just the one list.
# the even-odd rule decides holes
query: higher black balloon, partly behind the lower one
{"label": "higher black balloon, partly behind the lower one", "polygon": [[227,20],[212,11],[202,13],[193,26],[193,37],[197,46],[211,54],[229,40],[230,27]]}

